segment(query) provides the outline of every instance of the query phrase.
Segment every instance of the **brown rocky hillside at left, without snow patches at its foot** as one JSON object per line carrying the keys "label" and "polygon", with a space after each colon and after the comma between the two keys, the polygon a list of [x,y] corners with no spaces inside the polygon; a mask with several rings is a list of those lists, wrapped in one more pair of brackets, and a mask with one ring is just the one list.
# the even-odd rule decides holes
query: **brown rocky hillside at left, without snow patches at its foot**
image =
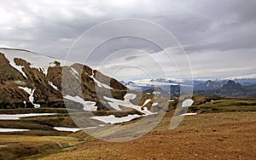
{"label": "brown rocky hillside at left, without snow patches at its foot", "polygon": [[[65,74],[65,78],[63,78]],[[65,89],[62,89],[65,88]],[[78,92],[82,90],[81,97]],[[110,90],[110,92],[109,92]],[[96,93],[102,94],[96,94]],[[65,107],[83,108],[82,101],[108,110],[98,96],[112,94],[123,100],[127,88],[100,71],[26,50],[0,49],[0,108]],[[107,104],[108,105],[108,104]]]}

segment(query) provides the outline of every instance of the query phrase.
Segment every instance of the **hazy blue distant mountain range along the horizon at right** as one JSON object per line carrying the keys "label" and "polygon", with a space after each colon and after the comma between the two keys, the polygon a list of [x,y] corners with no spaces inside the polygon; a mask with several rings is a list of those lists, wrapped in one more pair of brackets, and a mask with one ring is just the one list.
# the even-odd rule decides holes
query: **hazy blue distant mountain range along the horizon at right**
{"label": "hazy blue distant mountain range along the horizon at right", "polygon": [[[151,79],[131,82],[121,82],[128,89],[141,90],[153,93],[154,89],[161,90],[162,93],[169,93],[171,96],[178,97],[180,86],[170,79]],[[194,94],[207,94],[223,98],[256,98],[256,78],[241,78],[234,80],[194,80]]]}

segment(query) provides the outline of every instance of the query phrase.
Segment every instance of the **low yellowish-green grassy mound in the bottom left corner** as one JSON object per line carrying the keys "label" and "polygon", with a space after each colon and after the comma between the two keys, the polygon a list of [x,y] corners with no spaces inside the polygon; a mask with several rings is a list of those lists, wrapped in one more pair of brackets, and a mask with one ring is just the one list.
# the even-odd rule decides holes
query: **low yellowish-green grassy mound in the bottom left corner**
{"label": "low yellowish-green grassy mound in the bottom left corner", "polygon": [[79,143],[75,138],[63,136],[0,135],[0,140],[0,159],[5,160],[39,153],[49,154],[49,152]]}

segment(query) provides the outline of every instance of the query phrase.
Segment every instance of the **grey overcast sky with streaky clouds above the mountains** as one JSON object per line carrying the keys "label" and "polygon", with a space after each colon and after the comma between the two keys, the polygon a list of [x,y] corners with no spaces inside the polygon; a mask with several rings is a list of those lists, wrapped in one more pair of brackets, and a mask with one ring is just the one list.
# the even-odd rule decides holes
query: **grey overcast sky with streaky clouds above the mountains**
{"label": "grey overcast sky with streaky clouds above the mountains", "polygon": [[[0,47],[28,49],[65,59],[75,40],[91,27],[106,20],[137,18],[150,20],[172,32],[188,56],[195,79],[252,75],[256,69],[255,8],[255,0],[1,0]],[[114,30],[113,26],[104,31]],[[101,35],[101,31],[98,34]],[[88,38],[93,45],[96,38]],[[163,52],[148,41],[120,37],[103,46],[90,58],[89,65],[96,67],[104,61],[102,68],[107,69],[102,71],[107,74],[119,66],[115,77],[136,79],[145,74],[145,70],[161,77],[165,71],[152,67],[157,66],[155,59],[162,60],[157,61],[162,63],[162,68],[177,71],[176,62],[165,61]],[[76,57],[73,56],[74,61],[83,62]],[[100,57],[107,58],[97,64]],[[183,71],[183,67],[179,70]]]}

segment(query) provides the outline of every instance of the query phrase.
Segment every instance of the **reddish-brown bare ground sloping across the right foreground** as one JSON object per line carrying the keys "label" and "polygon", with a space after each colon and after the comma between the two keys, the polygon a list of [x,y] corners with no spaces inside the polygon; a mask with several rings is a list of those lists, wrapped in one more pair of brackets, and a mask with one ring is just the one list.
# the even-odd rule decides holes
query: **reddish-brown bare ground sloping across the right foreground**
{"label": "reddish-brown bare ground sloping across the right foreground", "polygon": [[254,159],[256,112],[186,116],[168,129],[167,113],[156,129],[123,143],[93,140],[41,159]]}

